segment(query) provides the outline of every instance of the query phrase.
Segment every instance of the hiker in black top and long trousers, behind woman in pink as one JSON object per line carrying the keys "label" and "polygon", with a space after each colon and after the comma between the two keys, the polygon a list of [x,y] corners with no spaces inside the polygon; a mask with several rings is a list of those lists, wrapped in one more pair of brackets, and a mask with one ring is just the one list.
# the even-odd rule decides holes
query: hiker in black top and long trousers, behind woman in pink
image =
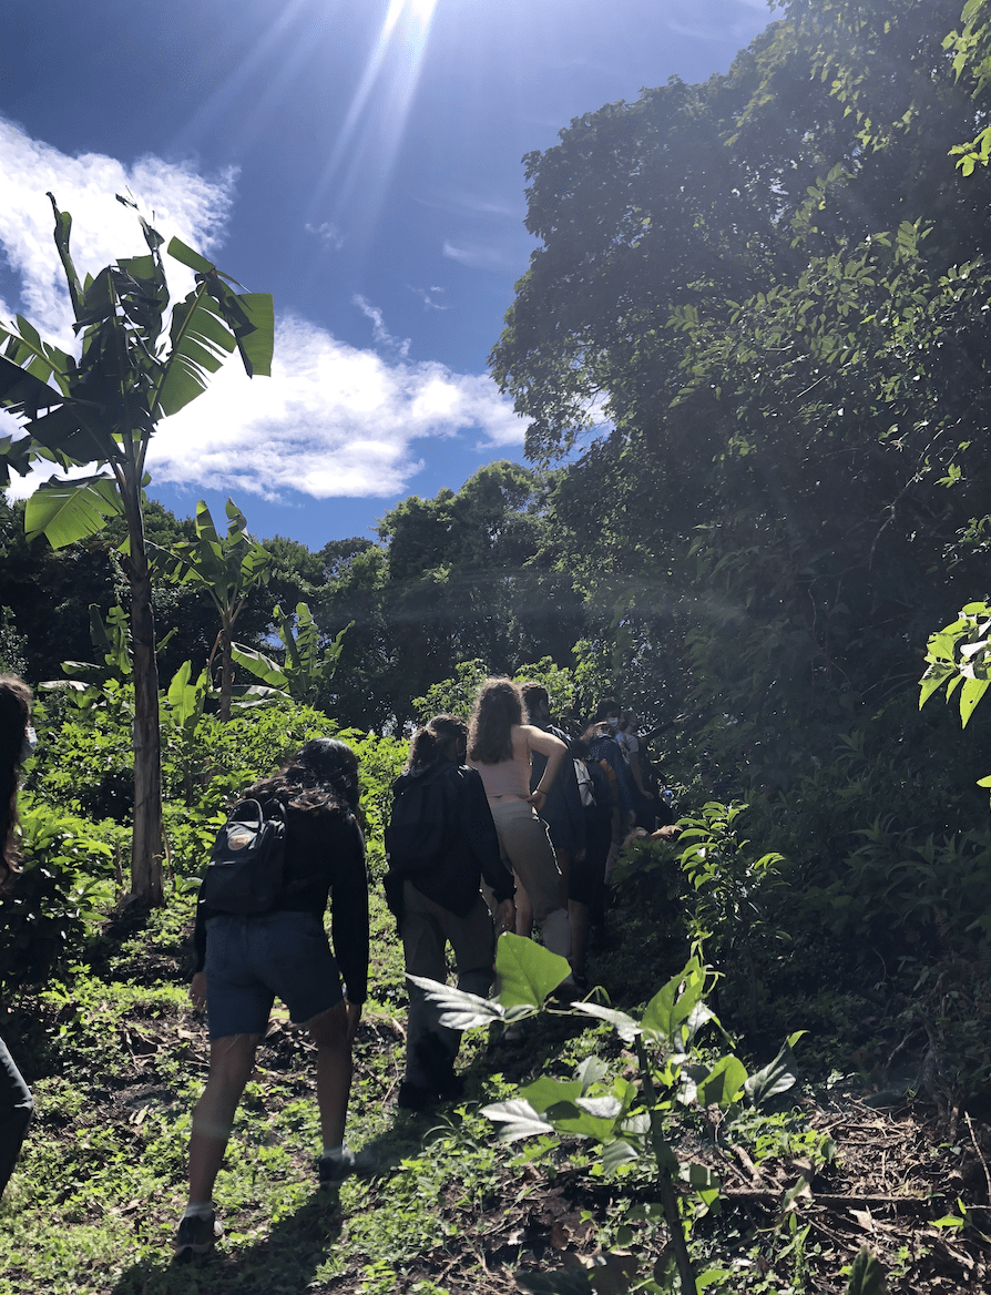
{"label": "hiker in black top and long trousers, behind woman in pink", "polygon": [[[495,931],[479,890],[484,877],[504,930],[514,923],[513,874],[499,852],[482,778],[465,765],[468,725],[435,715],[417,729],[409,763],[393,785],[386,830],[386,900],[403,940],[407,975],[444,982],[444,945],[457,988],[484,997],[495,980]],[[422,1111],[461,1096],[460,1031],[443,1028],[424,989],[409,984],[405,1077],[396,1105]]]}

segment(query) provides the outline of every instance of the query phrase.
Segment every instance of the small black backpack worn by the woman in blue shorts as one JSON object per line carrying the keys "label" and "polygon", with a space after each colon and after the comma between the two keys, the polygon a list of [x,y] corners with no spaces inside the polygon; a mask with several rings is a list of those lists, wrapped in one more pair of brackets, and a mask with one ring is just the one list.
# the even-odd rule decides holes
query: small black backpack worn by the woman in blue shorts
{"label": "small black backpack worn by the woman in blue shorts", "polygon": [[284,864],[282,805],[242,800],[216,834],[201,903],[219,913],[267,913],[282,894]]}

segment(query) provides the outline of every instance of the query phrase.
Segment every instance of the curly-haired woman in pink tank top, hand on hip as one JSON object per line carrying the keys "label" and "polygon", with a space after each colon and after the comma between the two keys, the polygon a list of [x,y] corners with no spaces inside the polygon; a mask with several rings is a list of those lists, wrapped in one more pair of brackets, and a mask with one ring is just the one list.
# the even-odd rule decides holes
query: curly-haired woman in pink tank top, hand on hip
{"label": "curly-haired woman in pink tank top, hand on hip", "polygon": [[[547,756],[547,768],[531,791],[532,751]],[[482,684],[468,732],[468,763],[482,774],[499,843],[518,886],[530,896],[545,947],[570,958],[564,878],[547,825],[539,817],[566,759],[567,747],[560,738],[523,723],[518,684],[510,679],[487,679]]]}

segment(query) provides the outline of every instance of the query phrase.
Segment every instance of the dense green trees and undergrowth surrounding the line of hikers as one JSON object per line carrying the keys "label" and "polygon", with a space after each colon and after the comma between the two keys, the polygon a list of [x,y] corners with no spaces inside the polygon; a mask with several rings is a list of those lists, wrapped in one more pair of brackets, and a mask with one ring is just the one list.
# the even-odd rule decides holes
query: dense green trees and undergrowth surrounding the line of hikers
{"label": "dense green trees and undergrowth surrounding the line of hikers", "polygon": [[[114,1290],[152,1279],[148,1256],[171,1224],[194,1083],[168,1061],[176,1028],[197,1037],[177,988],[183,930],[225,799],[307,733],[330,724],[352,730],[380,870],[399,734],[424,712],[464,708],[487,671],[539,673],[565,717],[587,716],[609,692],[662,729],[654,755],[698,835],[679,852],[635,846],[622,862],[615,943],[595,967],[614,1005],[641,1011],[694,947],[719,975],[711,1001],[749,1067],[794,1031],[808,1032],[797,1049],[814,1085],[806,1112],[821,1115],[826,1102],[815,1081],[855,1075],[860,1089],[882,1089],[891,1101],[921,1094],[960,1154],[964,1121],[986,1114],[991,1083],[991,828],[977,787],[988,773],[991,707],[978,707],[961,733],[946,708],[917,704],[929,635],[961,606],[991,597],[991,40],[988,5],[972,0],[961,19],[960,3],[789,0],[724,76],[672,80],[635,104],[608,105],[527,158],[527,225],[540,246],[492,365],[532,420],[534,466],[492,464],[459,491],[413,496],[385,514],[377,541],[334,540],[316,553],[282,537],[264,541],[266,578],[245,587],[237,616],[241,659],[280,658],[288,675],[279,688],[295,701],[219,719],[206,681],[196,685],[220,629],[216,600],[194,580],[171,583],[179,567],[162,558],[152,597],[167,688],[168,903],[148,935],[122,900],[133,703],[126,642],[113,648],[106,637],[106,627],[123,625],[114,613],[126,601],[114,548],[122,524],[111,519],[102,537],[54,553],[25,539],[22,505],[0,502],[0,666],[34,684],[80,679],[80,662],[96,670],[76,698],[82,706],[65,690],[41,694],[25,815],[28,868],[3,914],[0,973],[14,1017],[13,1031],[0,1032],[23,1032],[43,1111],[48,1103],[52,1112],[6,1207],[12,1220],[43,1228],[57,1204],[66,1221],[96,1228],[93,1198],[130,1210],[124,1197],[148,1197],[152,1221],[141,1211],[136,1220],[141,1257]],[[955,146],[959,168],[948,155]],[[154,505],[145,527],[152,552],[189,556],[197,543],[193,522]],[[286,614],[301,605],[308,610],[293,631]],[[311,631],[303,688],[293,651]],[[285,651],[273,646],[276,635]],[[983,682],[983,657],[961,657],[960,636],[946,642],[947,668],[964,662]],[[75,664],[63,671],[63,660]],[[236,677],[242,688],[256,682],[242,667]],[[749,808],[727,809],[731,802]],[[320,1251],[306,1277],[330,1290],[347,1270],[359,1274],[355,1289],[391,1290],[394,1269],[405,1264],[408,1289],[442,1291],[450,1282],[438,1276],[440,1260],[417,1267],[416,1256],[440,1244],[453,1254],[450,1238],[465,1233],[469,1216],[473,1228],[484,1217],[494,1193],[505,1204],[510,1181],[531,1181],[529,1162],[500,1159],[472,1102],[447,1116],[433,1155],[417,1150],[422,1129],[389,1125],[378,1089],[395,1075],[403,995],[381,909],[377,921],[376,1008],[363,1035],[369,1088],[358,1109],[368,1121],[360,1127],[385,1138],[393,1162],[381,1182],[373,1176],[370,1186],[342,1193],[350,1257]],[[153,1076],[128,1080],[135,1093],[144,1083],[145,1096],[158,1094],[141,1097],[150,1115],[131,1131],[136,1145],[150,1146],[146,1180],[133,1166],[124,1171],[123,1142],[104,1145],[98,1125],[80,1115],[73,1074],[80,1064],[96,1085],[87,1092],[98,1089],[93,1099],[108,1112],[130,1099],[114,1097],[104,1027],[130,1040],[135,1066],[139,1055],[154,1058],[141,1063]],[[527,1062],[547,1061],[558,1077],[597,1046],[561,1022],[535,1028]],[[188,1055],[198,1057],[189,1040]],[[273,1237],[284,1220],[297,1239],[329,1220],[339,1226],[333,1211],[302,1203],[310,1189],[297,1134],[312,1116],[302,1114],[303,1088],[290,1070],[299,1046],[286,1036],[285,1072],[259,1079],[259,1107],[268,1102],[275,1112],[272,1141],[245,1149],[225,1190],[238,1173],[255,1190],[269,1164],[282,1186],[260,1206],[241,1182],[245,1230],[231,1239],[232,1255],[267,1254],[266,1211]],[[621,1058],[608,1061],[630,1061]],[[473,1101],[508,1096],[494,1077],[499,1066],[526,1077],[519,1058],[491,1061],[479,1050]],[[773,1143],[781,1156],[799,1156],[792,1134],[821,1151],[815,1138],[828,1120],[771,1114],[786,1124]],[[746,1127],[738,1111],[732,1118]],[[760,1142],[769,1133],[763,1116],[747,1118],[751,1141],[740,1133],[733,1145],[750,1147],[760,1178],[755,1147],[769,1146]],[[692,1119],[684,1137],[703,1138],[706,1116]],[[66,1154],[70,1137],[71,1172],[91,1188],[88,1195],[65,1188],[53,1203],[62,1188],[52,1185],[45,1156]],[[970,1138],[979,1160],[973,1129]],[[97,1166],[100,1147],[126,1189]],[[89,1162],[83,1151],[92,1151]],[[820,1151],[812,1162],[823,1168]],[[589,1169],[587,1150],[544,1153],[534,1162],[544,1166],[534,1169],[541,1191],[554,1175],[587,1185],[588,1171],[595,1182],[614,1182],[597,1162]],[[640,1172],[617,1171],[615,1181],[632,1173],[630,1199],[643,1206],[653,1180]],[[957,1184],[968,1210],[975,1193],[991,1193],[981,1181]],[[446,1202],[440,1232],[429,1237],[411,1222],[417,1191]],[[390,1193],[405,1213],[389,1213]],[[694,1200],[689,1212],[705,1204],[690,1193],[685,1199]],[[622,1250],[631,1237],[641,1254],[658,1250],[653,1215],[619,1226],[604,1219],[601,1199],[582,1208],[595,1222],[582,1224],[583,1254],[596,1244]],[[943,1215],[952,1208],[953,1199],[933,1206]],[[974,1216],[960,1210],[955,1226],[965,1234]],[[367,1232],[361,1211],[378,1220]],[[731,1211],[714,1239],[711,1219],[701,1226],[698,1215],[696,1256],[716,1255],[735,1274],[712,1289],[841,1290],[842,1247],[830,1268],[820,1238],[810,1277],[807,1233],[795,1217],[784,1211],[758,1263],[749,1229],[768,1225],[766,1216],[747,1222]],[[54,1241],[44,1228],[32,1244],[48,1250]],[[100,1254],[119,1256],[113,1238],[97,1233]],[[900,1239],[916,1248],[899,1259],[889,1247],[890,1279],[904,1282],[895,1289],[938,1289],[913,1267],[931,1235],[925,1244]],[[505,1242],[497,1265],[509,1263],[513,1244]],[[240,1277],[228,1269],[223,1289],[254,1289],[249,1268],[245,1260]],[[35,1287],[26,1276],[18,1289],[85,1289],[57,1265],[31,1272]],[[459,1269],[457,1281],[500,1289],[479,1272],[468,1279]],[[276,1277],[259,1276],[256,1289],[277,1289]],[[304,1287],[294,1279],[285,1289]]]}

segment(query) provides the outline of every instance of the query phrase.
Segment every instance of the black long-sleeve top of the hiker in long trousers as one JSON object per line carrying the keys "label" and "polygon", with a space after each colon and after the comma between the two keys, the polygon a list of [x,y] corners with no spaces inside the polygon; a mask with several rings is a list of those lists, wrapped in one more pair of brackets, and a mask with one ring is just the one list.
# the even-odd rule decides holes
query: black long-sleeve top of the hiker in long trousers
{"label": "black long-sleeve top of the hiker in long trousers", "polygon": [[417,866],[396,869],[386,875],[386,897],[394,913],[402,910],[402,886],[409,881],[427,899],[448,913],[464,917],[478,897],[479,878],[484,877],[501,904],[516,890],[513,874],[503,862],[499,837],[492,822],[482,777],[468,765],[439,760],[424,769],[403,773],[393,783],[395,795],[416,778],[437,780],[443,786],[444,818],[456,822],[444,851]]}

